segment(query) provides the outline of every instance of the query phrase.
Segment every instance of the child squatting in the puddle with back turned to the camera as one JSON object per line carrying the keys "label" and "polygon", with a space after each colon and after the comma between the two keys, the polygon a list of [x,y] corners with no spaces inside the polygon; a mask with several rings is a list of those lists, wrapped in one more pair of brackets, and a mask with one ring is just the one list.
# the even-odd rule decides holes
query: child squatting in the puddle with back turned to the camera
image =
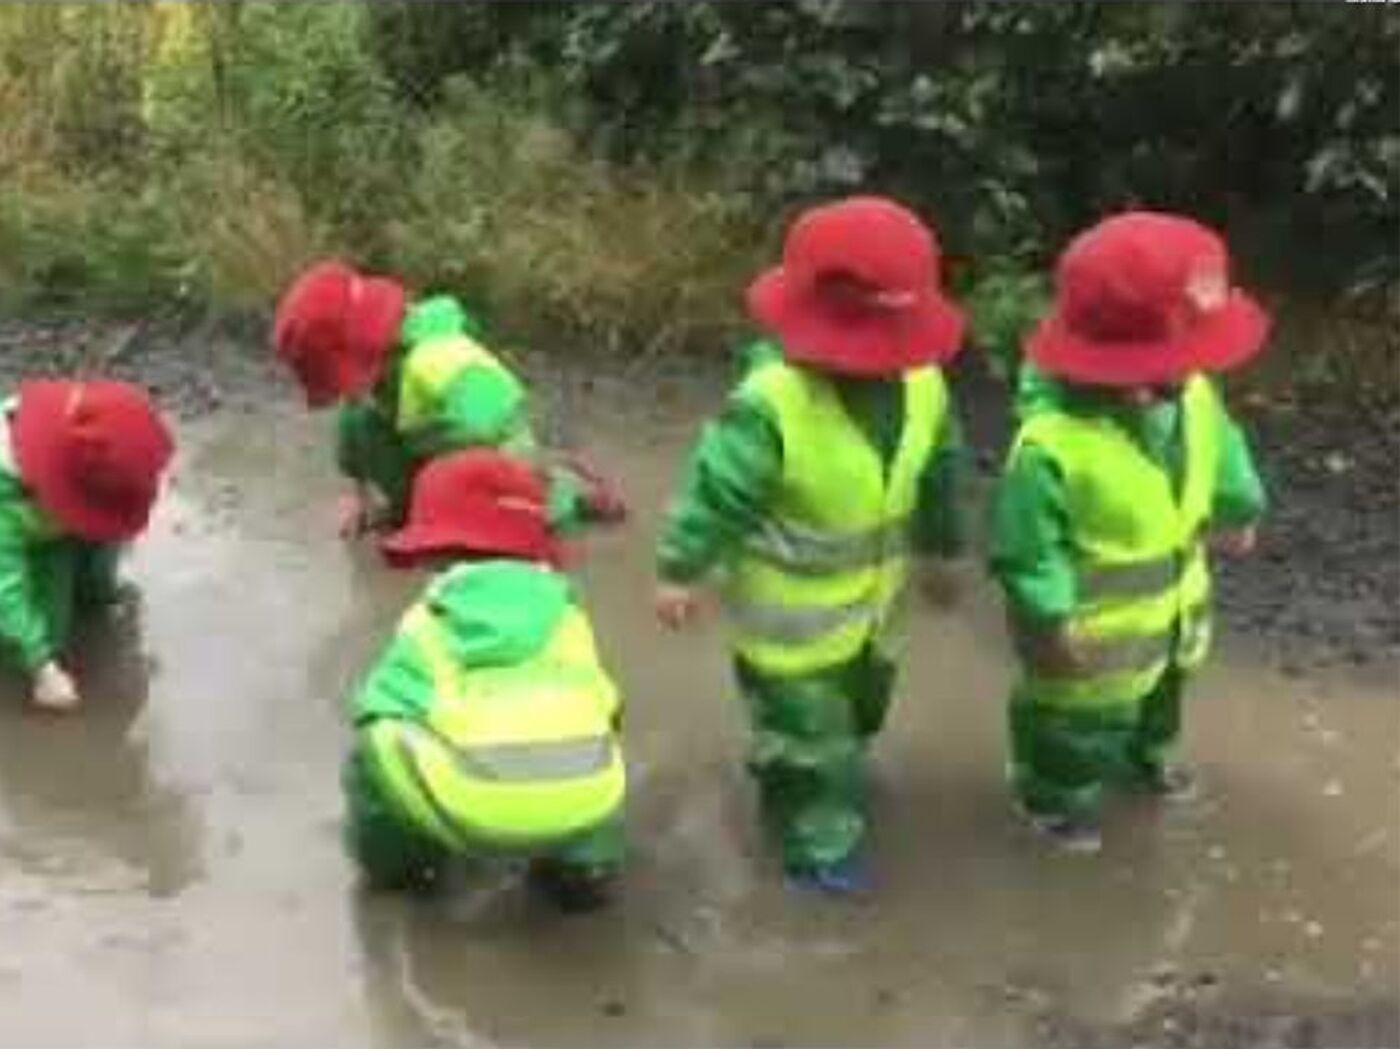
{"label": "child squatting in the puddle with back turned to the camera", "polygon": [[419,473],[391,563],[441,569],[354,696],[349,842],[371,884],[431,882],[454,854],[532,859],[566,910],[620,867],[620,703],[559,570],[545,489],[494,451]]}

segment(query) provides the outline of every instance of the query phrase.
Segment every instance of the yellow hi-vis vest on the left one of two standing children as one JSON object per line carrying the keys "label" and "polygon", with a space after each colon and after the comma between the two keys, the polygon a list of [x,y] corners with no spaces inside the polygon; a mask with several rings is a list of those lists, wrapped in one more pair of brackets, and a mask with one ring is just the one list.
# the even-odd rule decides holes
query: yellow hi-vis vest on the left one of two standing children
{"label": "yellow hi-vis vest on the left one of two standing children", "polygon": [[909,371],[904,427],[886,471],[823,375],[774,360],[741,396],[777,420],[783,479],[746,542],[725,601],[739,654],[797,675],[841,664],[885,627],[907,576],[918,480],[944,426],[948,394],[932,367]]}

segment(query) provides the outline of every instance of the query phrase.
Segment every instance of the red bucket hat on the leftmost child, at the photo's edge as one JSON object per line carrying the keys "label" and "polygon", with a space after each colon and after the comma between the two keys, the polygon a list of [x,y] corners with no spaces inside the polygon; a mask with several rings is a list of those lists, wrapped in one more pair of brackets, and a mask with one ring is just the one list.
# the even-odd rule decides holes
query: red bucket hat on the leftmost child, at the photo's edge
{"label": "red bucket hat on the leftmost child, at the photo's edge", "polygon": [[24,382],[10,436],[35,501],[92,542],[146,528],[175,451],[150,398],[127,382]]}

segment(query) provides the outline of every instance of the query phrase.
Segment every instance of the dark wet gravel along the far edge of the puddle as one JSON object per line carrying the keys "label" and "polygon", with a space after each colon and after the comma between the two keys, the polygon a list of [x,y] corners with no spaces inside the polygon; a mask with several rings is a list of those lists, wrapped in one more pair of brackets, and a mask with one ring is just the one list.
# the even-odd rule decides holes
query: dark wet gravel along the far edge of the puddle
{"label": "dark wet gravel along the far edge of the puddle", "polygon": [[[0,321],[0,387],[35,374],[102,374],[147,385],[168,410],[190,419],[288,396],[290,385],[265,346],[266,321],[255,315]],[[720,357],[617,367],[587,354],[529,354],[517,363],[535,377],[546,431],[566,444],[581,440],[580,420],[599,405],[650,413],[661,423],[678,409],[693,415],[697,398],[713,403],[732,375]],[[1009,430],[1005,389],[973,354],[955,368],[953,384],[984,494]],[[1273,506],[1257,556],[1218,567],[1225,630],[1263,646],[1295,675],[1396,660],[1400,406],[1358,410],[1254,395],[1235,409],[1247,424]]]}

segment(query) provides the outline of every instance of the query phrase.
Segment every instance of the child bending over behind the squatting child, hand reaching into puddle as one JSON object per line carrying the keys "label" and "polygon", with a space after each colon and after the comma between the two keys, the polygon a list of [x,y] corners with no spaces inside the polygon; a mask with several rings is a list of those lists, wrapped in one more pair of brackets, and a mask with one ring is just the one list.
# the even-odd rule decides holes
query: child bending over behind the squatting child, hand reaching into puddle
{"label": "child bending over behind the squatting child, hand reaching into puddle", "polygon": [[[433,457],[487,447],[535,458],[526,391],[477,339],[451,296],[407,304],[403,287],[318,262],[277,305],[273,342],[311,408],[340,405],[337,459],[351,480],[343,535],[398,527]],[[550,471],[556,525],[616,521],[622,500],[578,462]]]}

